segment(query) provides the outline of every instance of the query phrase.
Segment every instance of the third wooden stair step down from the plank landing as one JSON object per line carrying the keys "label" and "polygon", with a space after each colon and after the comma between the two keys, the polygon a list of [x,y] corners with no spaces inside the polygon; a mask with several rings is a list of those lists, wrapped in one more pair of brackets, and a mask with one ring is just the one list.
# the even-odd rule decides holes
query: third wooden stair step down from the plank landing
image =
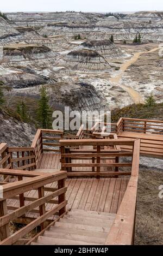
{"label": "third wooden stair step down from the plank landing", "polygon": [[110,228],[108,227],[94,227],[91,225],[84,225],[84,224],[76,224],[76,223],[68,223],[68,222],[56,222],[55,225],[57,227],[65,227],[65,228],[76,228],[76,229],[83,229],[83,230],[90,230],[92,232],[97,231],[97,232],[105,232],[109,233]]}

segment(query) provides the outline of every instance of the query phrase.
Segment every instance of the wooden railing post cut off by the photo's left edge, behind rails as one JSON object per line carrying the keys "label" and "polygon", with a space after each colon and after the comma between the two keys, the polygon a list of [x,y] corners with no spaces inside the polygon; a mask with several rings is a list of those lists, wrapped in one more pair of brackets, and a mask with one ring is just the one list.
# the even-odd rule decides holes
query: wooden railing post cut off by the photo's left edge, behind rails
{"label": "wooden railing post cut off by the photo's left edge, behind rails", "polygon": [[[3,200],[0,201],[0,217],[7,215],[7,201]],[[1,241],[4,240],[9,236],[9,224],[3,225],[3,227],[0,228],[0,239]]]}

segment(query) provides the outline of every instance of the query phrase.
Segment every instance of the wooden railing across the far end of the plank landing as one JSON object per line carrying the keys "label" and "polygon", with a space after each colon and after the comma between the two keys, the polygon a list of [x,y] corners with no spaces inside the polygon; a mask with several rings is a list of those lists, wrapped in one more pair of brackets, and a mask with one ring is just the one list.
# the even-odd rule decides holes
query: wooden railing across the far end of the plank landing
{"label": "wooden railing across the far end of the plank landing", "polygon": [[[120,145],[133,146],[134,140],[60,140],[60,145],[61,170],[66,170],[67,176],[96,176],[99,178],[100,176],[131,174],[131,171],[119,171],[120,167],[131,168],[132,165],[131,162],[119,163],[119,157],[133,156],[133,152],[121,152],[120,148],[116,147]],[[73,149],[73,147],[75,148]],[[111,171],[110,168],[114,170]]]}

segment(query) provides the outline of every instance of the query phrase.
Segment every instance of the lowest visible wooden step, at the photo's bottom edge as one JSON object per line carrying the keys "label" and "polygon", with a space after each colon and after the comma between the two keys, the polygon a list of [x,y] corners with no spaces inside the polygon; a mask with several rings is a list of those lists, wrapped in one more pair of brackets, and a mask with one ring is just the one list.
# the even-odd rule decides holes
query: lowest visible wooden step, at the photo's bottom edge
{"label": "lowest visible wooden step, at the photo's bottom edge", "polygon": [[83,241],[39,236],[31,245],[98,245],[98,243],[87,243]]}

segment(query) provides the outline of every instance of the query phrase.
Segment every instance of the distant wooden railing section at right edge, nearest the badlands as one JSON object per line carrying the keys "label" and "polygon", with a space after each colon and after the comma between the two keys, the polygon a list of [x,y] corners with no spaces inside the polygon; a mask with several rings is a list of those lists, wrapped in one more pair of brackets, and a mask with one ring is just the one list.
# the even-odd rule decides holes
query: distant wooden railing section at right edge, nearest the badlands
{"label": "distant wooden railing section at right edge, nearest the badlands", "polygon": [[120,120],[117,122],[116,129],[117,134],[120,134],[121,132],[136,132],[163,135],[163,121],[120,118]]}

